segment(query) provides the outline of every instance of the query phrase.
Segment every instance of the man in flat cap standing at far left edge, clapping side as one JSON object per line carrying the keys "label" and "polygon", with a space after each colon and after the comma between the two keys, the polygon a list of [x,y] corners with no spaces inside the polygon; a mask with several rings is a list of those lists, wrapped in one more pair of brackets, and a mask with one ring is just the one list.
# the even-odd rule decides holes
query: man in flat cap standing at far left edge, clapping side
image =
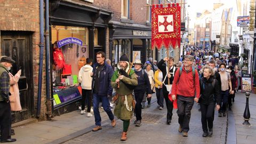
{"label": "man in flat cap standing at far left edge, clapping side", "polygon": [[0,60],[0,126],[1,143],[13,142],[11,139],[11,105],[9,100],[10,77],[9,70],[15,61],[9,57],[2,57]]}

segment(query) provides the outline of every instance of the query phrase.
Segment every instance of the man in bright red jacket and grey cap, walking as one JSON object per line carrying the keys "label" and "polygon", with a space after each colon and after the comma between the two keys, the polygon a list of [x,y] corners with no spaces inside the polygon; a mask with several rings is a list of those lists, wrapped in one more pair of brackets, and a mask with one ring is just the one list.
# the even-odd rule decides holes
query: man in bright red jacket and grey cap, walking
{"label": "man in bright red jacket and grey cap, walking", "polygon": [[194,101],[198,102],[200,97],[199,75],[197,70],[192,67],[193,61],[192,55],[185,56],[182,71],[177,70],[172,83],[171,95],[173,100],[177,99],[179,132],[183,131],[183,137],[188,137],[191,109]]}

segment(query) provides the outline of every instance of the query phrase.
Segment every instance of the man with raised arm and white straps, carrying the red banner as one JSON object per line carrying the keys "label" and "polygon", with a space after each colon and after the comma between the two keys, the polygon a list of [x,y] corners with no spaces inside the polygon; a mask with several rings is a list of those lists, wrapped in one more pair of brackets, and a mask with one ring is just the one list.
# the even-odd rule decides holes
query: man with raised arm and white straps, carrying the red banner
{"label": "man with raised arm and white straps, carrying the red banner", "polygon": [[[167,61],[167,65],[169,65],[169,70],[167,70],[167,66],[164,65],[165,61]],[[174,74],[175,74],[175,71],[177,71],[177,69],[173,66],[173,61],[174,61],[173,57],[169,57],[169,58],[166,57],[157,63],[157,67],[162,71],[163,78],[164,78],[162,90],[163,90],[163,95],[164,95],[166,108],[167,108],[166,124],[169,124],[169,125],[171,124],[171,120],[172,120],[173,104],[171,100],[168,98],[168,94],[170,90],[167,90],[166,85],[168,85],[168,79],[170,79],[169,80],[170,84],[171,85],[173,84]]]}

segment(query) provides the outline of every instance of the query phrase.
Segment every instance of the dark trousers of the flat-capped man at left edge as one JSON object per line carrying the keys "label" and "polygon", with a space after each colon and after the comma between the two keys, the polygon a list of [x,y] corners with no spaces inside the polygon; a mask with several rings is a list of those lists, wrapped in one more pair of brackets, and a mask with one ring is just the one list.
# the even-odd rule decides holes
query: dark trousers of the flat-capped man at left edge
{"label": "dark trousers of the flat-capped man at left edge", "polygon": [[11,132],[10,101],[9,102],[0,101],[0,127],[1,127],[1,140],[10,139],[10,132]]}

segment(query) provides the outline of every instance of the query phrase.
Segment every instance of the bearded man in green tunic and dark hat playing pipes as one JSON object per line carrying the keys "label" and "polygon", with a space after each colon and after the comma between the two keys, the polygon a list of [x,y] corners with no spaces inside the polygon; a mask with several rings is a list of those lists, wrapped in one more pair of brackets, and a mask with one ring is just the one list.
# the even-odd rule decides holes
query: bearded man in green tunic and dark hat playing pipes
{"label": "bearded man in green tunic and dark hat playing pipes", "polygon": [[[115,89],[117,95],[114,115],[123,121],[123,132],[121,140],[127,139],[127,130],[130,125],[130,119],[133,114],[133,89],[138,85],[137,75],[130,69],[129,59],[124,54],[120,57],[117,64],[117,70],[111,78],[111,86]],[[127,74],[130,72],[129,74]]]}

